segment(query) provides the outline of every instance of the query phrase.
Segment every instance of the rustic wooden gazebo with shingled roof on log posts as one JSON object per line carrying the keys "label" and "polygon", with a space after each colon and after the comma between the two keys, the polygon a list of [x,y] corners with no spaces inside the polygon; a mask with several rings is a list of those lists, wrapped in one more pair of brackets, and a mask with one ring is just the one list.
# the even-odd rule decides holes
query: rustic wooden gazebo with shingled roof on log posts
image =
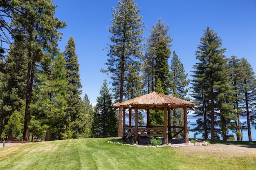
{"label": "rustic wooden gazebo with shingled roof on log posts", "polygon": [[[187,127],[187,108],[195,109],[195,104],[164,95],[161,93],[152,92],[147,95],[130,99],[126,102],[114,104],[114,109],[123,110],[123,139],[126,140],[131,135],[135,136],[135,141],[139,142],[139,136],[146,136],[152,139],[152,136],[164,137],[164,144],[168,144],[169,138],[173,138],[178,134],[184,135],[185,143],[189,143],[188,127]],[[184,110],[184,126],[171,126],[171,110],[176,108],[183,108]],[[125,111],[129,109],[129,125],[126,126]],[[147,112],[147,125],[138,126],[138,109],[146,110]],[[164,126],[151,126],[150,125],[150,109],[164,110]],[[135,125],[132,126],[132,110],[135,110]],[[172,135],[174,134],[174,135]]]}

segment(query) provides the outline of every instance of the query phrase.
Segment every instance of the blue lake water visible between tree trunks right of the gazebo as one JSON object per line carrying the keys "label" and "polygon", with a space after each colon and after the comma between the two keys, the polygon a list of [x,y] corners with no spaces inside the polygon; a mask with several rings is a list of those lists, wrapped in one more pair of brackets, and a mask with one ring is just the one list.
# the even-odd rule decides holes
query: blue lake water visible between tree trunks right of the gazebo
{"label": "blue lake water visible between tree trunks right of the gazebo", "polygon": [[[192,128],[195,128],[196,126],[193,126],[192,124],[195,124],[196,123],[196,120],[197,119],[188,119],[189,121],[189,124],[188,124],[188,127],[190,127],[191,129]],[[241,122],[247,122],[246,119],[240,119]],[[197,135],[196,137],[194,137],[194,133],[195,132],[191,132],[189,131],[189,138],[202,138],[202,135]],[[235,137],[235,141],[236,141],[236,134],[235,133],[232,133],[232,131],[229,131],[229,134],[230,135],[234,135]],[[254,128],[254,126],[251,125],[251,134],[252,134],[252,141],[256,141],[256,129]],[[221,138],[220,138],[221,139]],[[249,141],[249,138],[248,138],[248,131],[245,129],[243,130],[243,141]]]}

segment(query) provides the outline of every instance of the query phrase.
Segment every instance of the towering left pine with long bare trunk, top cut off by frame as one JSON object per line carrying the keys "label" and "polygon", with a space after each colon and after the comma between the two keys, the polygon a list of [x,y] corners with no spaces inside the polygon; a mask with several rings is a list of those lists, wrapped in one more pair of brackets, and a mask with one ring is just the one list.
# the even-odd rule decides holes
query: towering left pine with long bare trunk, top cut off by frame
{"label": "towering left pine with long bare trunk, top cut off by frame", "polygon": [[[22,40],[22,44],[27,49],[28,57],[24,140],[28,140],[29,135],[29,105],[31,104],[36,63],[45,57],[45,51],[49,52],[49,49],[57,46],[60,34],[58,29],[65,27],[65,22],[54,18],[56,7],[52,4],[52,0],[27,0],[20,1],[17,6],[18,13],[11,13],[12,17],[15,18],[12,20],[13,25],[15,25],[13,30],[16,36],[14,39]],[[20,32],[22,32],[21,35],[18,34]]]}

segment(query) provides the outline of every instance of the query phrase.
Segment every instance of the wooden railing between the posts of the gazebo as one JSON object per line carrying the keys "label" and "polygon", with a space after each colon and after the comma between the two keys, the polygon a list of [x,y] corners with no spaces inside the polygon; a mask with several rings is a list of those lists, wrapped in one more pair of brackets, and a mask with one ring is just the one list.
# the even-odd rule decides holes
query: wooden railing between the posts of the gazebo
{"label": "wooden railing between the posts of the gazebo", "polygon": [[[126,132],[126,136],[123,137],[125,141],[135,135],[135,126],[125,126],[124,130]],[[150,139],[152,137],[164,137],[164,132],[164,126],[138,126],[138,135]],[[168,138],[173,138],[177,135],[184,135],[184,126],[168,126]]]}

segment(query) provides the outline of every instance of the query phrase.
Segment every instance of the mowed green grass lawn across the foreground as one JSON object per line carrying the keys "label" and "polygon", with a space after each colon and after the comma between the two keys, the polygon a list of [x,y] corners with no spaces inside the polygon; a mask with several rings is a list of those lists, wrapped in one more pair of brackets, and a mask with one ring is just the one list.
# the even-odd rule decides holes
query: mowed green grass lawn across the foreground
{"label": "mowed green grass lawn across the foreground", "polygon": [[[69,139],[0,148],[1,170],[253,170],[256,154],[211,157],[179,149],[109,144],[113,138]],[[211,141],[214,143],[214,141]],[[215,141],[215,143],[218,143]],[[252,143],[255,145],[255,142]],[[198,147],[198,146],[191,146]],[[205,147],[207,146],[199,146]],[[202,159],[203,158],[203,159]]]}

